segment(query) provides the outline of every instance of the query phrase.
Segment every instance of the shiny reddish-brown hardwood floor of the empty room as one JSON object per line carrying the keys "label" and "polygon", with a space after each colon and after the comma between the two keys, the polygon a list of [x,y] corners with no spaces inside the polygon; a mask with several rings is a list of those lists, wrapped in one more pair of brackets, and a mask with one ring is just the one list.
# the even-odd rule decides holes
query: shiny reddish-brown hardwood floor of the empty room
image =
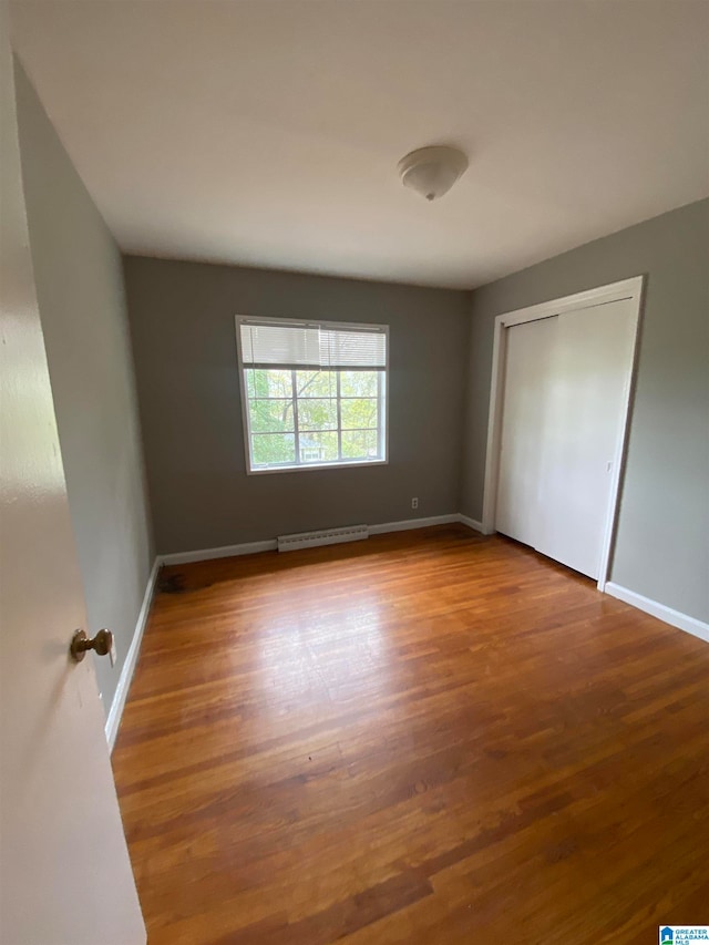
{"label": "shiny reddish-brown hardwood floor of the empty room", "polygon": [[709,646],[463,526],[165,568],[113,754],[151,945],[709,922]]}

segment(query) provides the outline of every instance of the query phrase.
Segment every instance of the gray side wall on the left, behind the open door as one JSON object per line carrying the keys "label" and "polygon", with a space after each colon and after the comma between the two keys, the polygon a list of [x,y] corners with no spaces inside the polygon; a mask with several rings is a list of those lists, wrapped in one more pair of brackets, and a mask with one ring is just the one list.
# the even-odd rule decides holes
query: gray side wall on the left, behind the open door
{"label": "gray side wall on the left, behind the open door", "polygon": [[121,256],[19,65],[16,73],[30,244],[86,629],[107,626],[116,637],[116,666],[96,659],[107,715],[154,558]]}

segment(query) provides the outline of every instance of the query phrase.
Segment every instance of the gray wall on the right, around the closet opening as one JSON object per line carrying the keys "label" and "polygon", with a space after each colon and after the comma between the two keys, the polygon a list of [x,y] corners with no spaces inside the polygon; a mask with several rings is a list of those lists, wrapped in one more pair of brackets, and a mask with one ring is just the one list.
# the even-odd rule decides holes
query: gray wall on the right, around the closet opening
{"label": "gray wall on the right, around the closet opening", "polygon": [[472,298],[462,511],[481,518],[495,316],[647,274],[612,581],[709,619],[709,201],[564,253]]}

